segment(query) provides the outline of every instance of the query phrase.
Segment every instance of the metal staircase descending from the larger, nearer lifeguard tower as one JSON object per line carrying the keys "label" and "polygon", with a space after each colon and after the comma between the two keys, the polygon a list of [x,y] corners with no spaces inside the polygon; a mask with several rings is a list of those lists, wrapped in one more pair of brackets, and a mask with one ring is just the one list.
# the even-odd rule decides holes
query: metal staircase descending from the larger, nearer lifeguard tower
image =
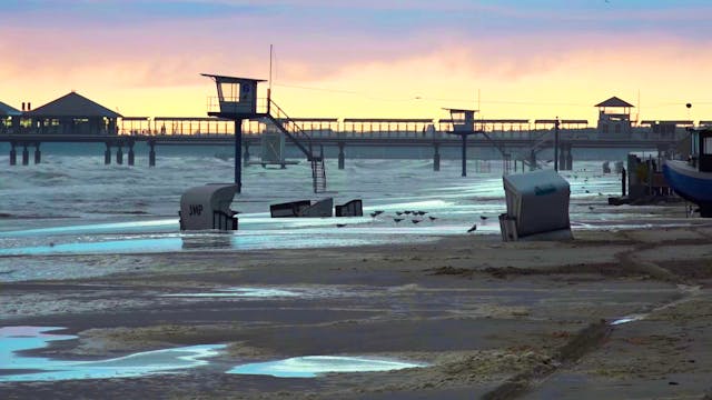
{"label": "metal staircase descending from the larger, nearer lifeguard tower", "polygon": [[287,113],[279,108],[271,99],[267,114],[265,116],[274,123],[301,152],[312,163],[312,183],[314,192],[326,191],[326,166],[324,164],[324,148],[320,148],[319,154],[314,153],[312,146],[312,137],[305,132]]}

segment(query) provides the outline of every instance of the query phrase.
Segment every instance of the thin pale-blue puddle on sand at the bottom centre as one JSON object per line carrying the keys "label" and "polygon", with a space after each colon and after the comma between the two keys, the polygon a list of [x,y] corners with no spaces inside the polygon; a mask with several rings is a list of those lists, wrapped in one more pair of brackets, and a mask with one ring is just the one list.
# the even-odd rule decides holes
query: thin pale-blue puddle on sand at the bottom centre
{"label": "thin pale-blue puddle on sand at the bottom centre", "polygon": [[277,378],[316,378],[323,373],[394,371],[422,367],[427,367],[427,364],[362,357],[306,356],[237,366],[227,373]]}

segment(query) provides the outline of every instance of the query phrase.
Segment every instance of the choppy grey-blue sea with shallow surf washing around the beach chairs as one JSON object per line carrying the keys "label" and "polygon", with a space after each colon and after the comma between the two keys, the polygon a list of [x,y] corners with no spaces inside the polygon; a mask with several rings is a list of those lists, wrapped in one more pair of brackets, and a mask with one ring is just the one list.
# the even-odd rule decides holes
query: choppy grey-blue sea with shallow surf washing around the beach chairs
{"label": "choppy grey-blue sea with shallow surf washing around the beach chairs", "polygon": [[[497,216],[506,212],[501,160],[471,160],[467,177],[462,177],[456,159],[442,160],[439,171],[426,159],[347,159],[343,170],[336,159],[328,159],[325,193],[313,192],[309,163],[295,161],[286,169],[243,169],[243,192],[231,204],[239,212],[239,230],[226,233],[181,232],[178,223],[186,190],[233,181],[234,159],[225,154],[159,156],[155,168],[142,158],[134,167],[105,166],[98,152],[49,153],[39,164],[14,167],[0,156],[0,282],[125,268],[120,262],[99,272],[70,268],[57,261],[67,254],[240,252],[500,236]],[[659,206],[607,204],[609,197],[621,194],[621,176],[604,173],[604,161],[576,161],[572,171],[561,172],[571,186],[574,233],[660,224]],[[325,197],[334,198],[335,204],[360,199],[364,217],[270,218],[270,204]],[[684,206],[679,208],[684,218]],[[375,211],[383,212],[372,217]],[[406,211],[424,213],[414,217]]]}

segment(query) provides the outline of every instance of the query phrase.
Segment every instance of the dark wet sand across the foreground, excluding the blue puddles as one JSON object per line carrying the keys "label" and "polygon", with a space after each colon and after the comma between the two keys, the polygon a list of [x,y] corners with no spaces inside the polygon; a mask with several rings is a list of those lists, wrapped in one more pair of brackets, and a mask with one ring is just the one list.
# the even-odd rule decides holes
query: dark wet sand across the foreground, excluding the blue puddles
{"label": "dark wet sand across the foreground, excluding the blue puddles", "polygon": [[[3,398],[703,398],[712,389],[712,226],[462,236],[411,246],[121,256],[131,272],[2,283],[2,326],[78,339],[30,354],[102,359],[228,344],[146,378],[0,383]],[[33,256],[71,263],[106,256]],[[27,261],[14,257],[18,268]],[[281,296],[226,296],[233,288]],[[214,293],[216,296],[207,296]],[[286,296],[285,293],[295,293]],[[218,296],[219,294],[219,296]],[[640,320],[611,324],[635,316]],[[224,373],[299,356],[429,364],[285,379]]]}

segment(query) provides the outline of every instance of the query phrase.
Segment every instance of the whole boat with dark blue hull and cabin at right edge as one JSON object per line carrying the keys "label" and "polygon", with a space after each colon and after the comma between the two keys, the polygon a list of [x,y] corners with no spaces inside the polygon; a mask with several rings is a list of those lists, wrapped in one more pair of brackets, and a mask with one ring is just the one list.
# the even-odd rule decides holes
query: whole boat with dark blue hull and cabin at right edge
{"label": "whole boat with dark blue hull and cabin at right edge", "polygon": [[691,131],[686,161],[666,160],[663,174],[681,198],[700,207],[700,216],[712,218],[712,129]]}

